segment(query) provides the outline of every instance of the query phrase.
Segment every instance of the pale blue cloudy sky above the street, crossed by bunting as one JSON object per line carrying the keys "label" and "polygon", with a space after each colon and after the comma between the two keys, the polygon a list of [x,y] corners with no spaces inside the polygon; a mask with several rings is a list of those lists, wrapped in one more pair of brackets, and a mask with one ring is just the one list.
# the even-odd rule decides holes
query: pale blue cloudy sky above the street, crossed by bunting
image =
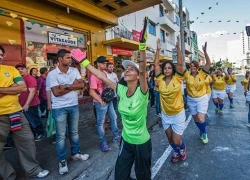
{"label": "pale blue cloudy sky above the street, crossed by bunting", "polygon": [[[178,0],[174,2],[178,5]],[[191,30],[198,35],[199,49],[202,50],[202,45],[207,41],[208,53],[215,59],[224,59],[227,56],[227,42],[239,40],[240,32],[250,23],[250,0],[182,0],[182,2],[189,11],[190,20],[195,21],[191,24]],[[212,8],[209,10],[209,7]],[[197,17],[199,19],[196,19]],[[227,22],[228,20],[231,21]]]}

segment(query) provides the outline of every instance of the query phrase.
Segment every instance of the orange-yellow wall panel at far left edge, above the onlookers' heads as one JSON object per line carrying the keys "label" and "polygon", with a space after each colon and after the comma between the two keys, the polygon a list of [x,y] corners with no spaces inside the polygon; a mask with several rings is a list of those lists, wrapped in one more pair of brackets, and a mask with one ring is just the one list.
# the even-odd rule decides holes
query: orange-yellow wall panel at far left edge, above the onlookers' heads
{"label": "orange-yellow wall panel at far left edge, above the onlookers' heads", "polygon": [[[10,39],[15,40],[15,44],[21,44],[20,20],[5,16],[0,16],[0,19],[0,43],[9,44]],[[13,24],[8,26],[7,21]]]}

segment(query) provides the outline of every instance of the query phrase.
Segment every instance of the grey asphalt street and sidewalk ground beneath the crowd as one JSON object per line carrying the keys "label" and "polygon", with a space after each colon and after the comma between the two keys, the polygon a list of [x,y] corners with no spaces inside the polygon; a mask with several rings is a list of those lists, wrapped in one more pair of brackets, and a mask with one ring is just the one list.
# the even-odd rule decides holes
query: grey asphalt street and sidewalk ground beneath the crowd
{"label": "grey asphalt street and sidewalk ground beneath the crowd", "polygon": [[[237,90],[234,95],[234,108],[229,107],[225,98],[223,115],[215,114],[214,105],[210,101],[207,131],[208,144],[202,144],[198,139],[199,131],[189,112],[186,113],[186,129],[183,140],[187,145],[187,159],[184,162],[171,163],[171,147],[167,137],[157,124],[153,108],[148,108],[148,127],[153,145],[152,178],[155,180],[248,180],[250,179],[250,128],[247,124],[249,107],[245,104],[243,87],[240,84],[243,76],[238,76]],[[90,105],[86,114],[93,114]],[[86,119],[86,118],[85,118]],[[119,127],[121,128],[120,120]],[[45,179],[77,179],[77,180],[113,180],[114,165],[119,144],[111,143],[112,134],[107,131],[111,150],[108,153],[100,151],[98,137],[94,127],[94,119],[81,121],[79,127],[81,147],[84,153],[90,154],[86,162],[71,162],[70,173],[64,176],[58,174],[55,145],[50,145],[49,139],[36,143],[37,159],[42,167],[51,171]],[[69,147],[69,146],[68,146]],[[5,157],[17,169],[19,179],[24,179],[17,161],[15,149],[5,152]],[[135,177],[132,171],[132,177]]]}

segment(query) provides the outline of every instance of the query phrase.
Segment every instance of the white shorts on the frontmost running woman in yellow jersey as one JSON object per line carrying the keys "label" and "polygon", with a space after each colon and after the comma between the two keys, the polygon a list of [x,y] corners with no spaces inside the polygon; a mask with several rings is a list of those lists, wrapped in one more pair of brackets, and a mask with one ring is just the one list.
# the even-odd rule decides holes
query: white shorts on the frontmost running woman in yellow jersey
{"label": "white shorts on the frontmost running woman in yellow jersey", "polygon": [[176,115],[169,116],[165,114],[163,111],[161,112],[161,119],[162,119],[162,126],[164,128],[164,131],[169,128],[169,126],[172,127],[172,130],[178,134],[182,135],[185,129],[185,120],[186,120],[186,114],[185,110],[182,109],[181,112],[179,112]]}

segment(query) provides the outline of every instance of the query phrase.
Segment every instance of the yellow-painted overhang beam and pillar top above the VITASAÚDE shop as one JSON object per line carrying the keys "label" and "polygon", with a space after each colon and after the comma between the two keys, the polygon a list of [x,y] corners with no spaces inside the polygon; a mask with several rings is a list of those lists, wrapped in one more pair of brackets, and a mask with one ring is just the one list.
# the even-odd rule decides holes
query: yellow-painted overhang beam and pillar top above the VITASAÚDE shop
{"label": "yellow-painted overhang beam and pillar top above the VITASA\u00daDE shop", "polygon": [[[89,52],[91,52],[92,55],[90,57],[90,60],[93,61],[96,59],[97,56],[100,55],[107,55],[106,47],[102,46],[102,41],[105,40],[105,29],[103,27],[103,23],[100,21],[97,21],[95,19],[92,19],[91,17],[87,17],[79,13],[70,12],[68,14],[66,8],[57,6],[47,1],[41,2],[38,0],[3,0],[1,1],[0,6],[8,13],[12,12],[17,14],[17,18],[26,17],[28,19],[35,20],[36,22],[44,23],[45,25],[56,27],[58,24],[60,24],[71,27],[76,32],[86,32],[89,35],[88,40],[91,41],[91,44],[88,48]],[[2,37],[0,41],[2,41]],[[94,45],[95,43],[97,43],[97,46]]]}

